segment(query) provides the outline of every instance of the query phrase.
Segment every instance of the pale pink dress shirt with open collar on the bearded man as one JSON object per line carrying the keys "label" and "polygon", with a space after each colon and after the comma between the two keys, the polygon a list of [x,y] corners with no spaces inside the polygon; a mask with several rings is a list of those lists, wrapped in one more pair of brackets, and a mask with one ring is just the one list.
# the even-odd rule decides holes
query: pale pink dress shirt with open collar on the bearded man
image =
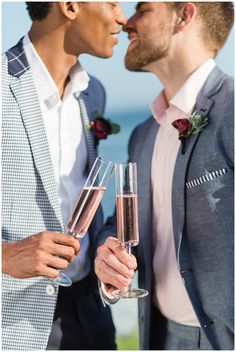
{"label": "pale pink dress shirt with open collar on the bearded man", "polygon": [[162,92],[151,105],[160,124],[152,157],[153,189],[153,270],[155,304],[168,319],[184,325],[200,326],[180,275],[173,236],[171,192],[173,173],[180,146],[178,131],[172,122],[188,118],[193,112],[198,93],[215,66],[207,60],[187,79],[169,101]]}

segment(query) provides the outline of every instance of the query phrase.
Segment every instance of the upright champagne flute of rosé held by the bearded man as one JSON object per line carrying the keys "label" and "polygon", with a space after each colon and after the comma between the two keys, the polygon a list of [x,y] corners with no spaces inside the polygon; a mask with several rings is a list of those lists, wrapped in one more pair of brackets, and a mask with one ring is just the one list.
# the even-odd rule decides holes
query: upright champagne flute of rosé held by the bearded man
{"label": "upright champagne flute of ros\u00e9 held by the bearded man", "polygon": [[[137,164],[116,164],[115,174],[118,240],[130,254],[131,248],[139,243]],[[130,285],[128,291],[115,290],[113,295],[119,298],[142,298],[148,295],[148,291]]]}

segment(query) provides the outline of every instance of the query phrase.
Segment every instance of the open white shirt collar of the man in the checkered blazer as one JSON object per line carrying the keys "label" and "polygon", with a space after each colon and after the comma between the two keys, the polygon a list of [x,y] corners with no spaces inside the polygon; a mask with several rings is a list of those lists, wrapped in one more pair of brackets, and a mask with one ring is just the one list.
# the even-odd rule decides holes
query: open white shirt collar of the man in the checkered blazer
{"label": "open white shirt collar of the man in the checkered blazer", "polygon": [[[62,102],[57,86],[44,62],[35,50],[28,34],[23,39],[23,46],[33,74],[41,107],[43,109],[52,109],[59,106]],[[40,79],[37,79],[38,77],[40,77]],[[85,90],[89,84],[89,76],[83,70],[79,62],[71,68],[69,77],[70,81],[66,86],[63,100],[71,94],[78,96],[79,93]]]}

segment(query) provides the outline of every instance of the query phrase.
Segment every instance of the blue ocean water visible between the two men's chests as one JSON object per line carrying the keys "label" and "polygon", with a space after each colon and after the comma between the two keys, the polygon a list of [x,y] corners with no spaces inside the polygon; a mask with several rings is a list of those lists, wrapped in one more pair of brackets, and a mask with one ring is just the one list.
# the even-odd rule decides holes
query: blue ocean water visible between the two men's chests
{"label": "blue ocean water visible between the two men's chests", "polygon": [[[150,110],[116,111],[105,114],[112,122],[118,123],[121,130],[116,135],[110,135],[99,142],[99,155],[104,160],[126,162],[128,159],[128,142],[134,128],[151,115]],[[102,206],[105,219],[111,216],[115,207],[115,177],[113,175],[108,189],[103,197]]]}

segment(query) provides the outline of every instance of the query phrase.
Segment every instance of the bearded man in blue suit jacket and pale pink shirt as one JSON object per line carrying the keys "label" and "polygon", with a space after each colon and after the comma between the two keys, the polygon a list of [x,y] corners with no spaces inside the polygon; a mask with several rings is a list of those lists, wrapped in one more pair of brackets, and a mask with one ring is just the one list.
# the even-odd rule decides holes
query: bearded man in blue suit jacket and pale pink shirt
{"label": "bearded man in blue suit jacket and pale pink shirt", "polygon": [[[142,349],[234,346],[234,84],[213,59],[232,24],[230,2],[142,2],[124,27],[126,67],[154,72],[164,85],[154,118],[129,144],[138,166],[139,285],[149,291],[139,300]],[[110,219],[104,232],[113,231]],[[101,293],[115,303],[112,291],[126,288],[134,260],[112,237],[98,253]]]}

